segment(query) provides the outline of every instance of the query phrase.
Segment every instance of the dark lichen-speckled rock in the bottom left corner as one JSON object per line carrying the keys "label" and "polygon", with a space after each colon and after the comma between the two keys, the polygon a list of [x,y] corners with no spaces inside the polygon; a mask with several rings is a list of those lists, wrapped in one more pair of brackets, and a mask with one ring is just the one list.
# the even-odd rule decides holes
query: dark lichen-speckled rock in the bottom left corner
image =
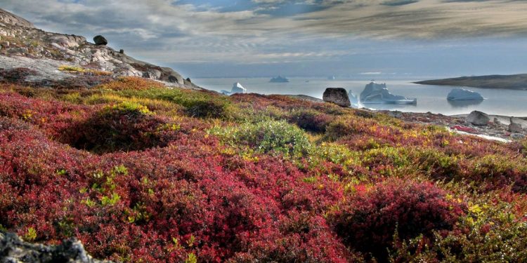
{"label": "dark lichen-speckled rock in the bottom left corner", "polygon": [[60,245],[33,244],[5,231],[0,231],[0,262],[110,263],[93,259],[76,239],[64,240]]}

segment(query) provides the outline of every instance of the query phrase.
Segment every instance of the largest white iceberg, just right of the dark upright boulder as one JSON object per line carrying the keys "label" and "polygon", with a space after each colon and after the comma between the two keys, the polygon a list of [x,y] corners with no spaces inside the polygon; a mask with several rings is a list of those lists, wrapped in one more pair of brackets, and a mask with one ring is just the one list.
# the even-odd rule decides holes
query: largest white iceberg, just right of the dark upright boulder
{"label": "largest white iceberg, just right of the dark upright boulder", "polygon": [[386,88],[386,83],[377,84],[372,81],[360,93],[360,102],[364,104],[417,104],[417,99],[393,95]]}

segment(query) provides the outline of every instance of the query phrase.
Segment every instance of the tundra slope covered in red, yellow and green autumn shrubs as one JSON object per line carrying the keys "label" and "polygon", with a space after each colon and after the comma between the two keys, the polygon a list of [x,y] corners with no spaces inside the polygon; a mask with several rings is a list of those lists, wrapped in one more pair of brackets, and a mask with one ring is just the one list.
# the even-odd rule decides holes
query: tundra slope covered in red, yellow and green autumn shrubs
{"label": "tundra slope covered in red, yellow and green autumn shrubs", "polygon": [[[58,61],[31,56],[6,58]],[[32,246],[7,232],[115,262],[527,261],[526,139],[60,69],[101,79],[0,72],[0,262]]]}

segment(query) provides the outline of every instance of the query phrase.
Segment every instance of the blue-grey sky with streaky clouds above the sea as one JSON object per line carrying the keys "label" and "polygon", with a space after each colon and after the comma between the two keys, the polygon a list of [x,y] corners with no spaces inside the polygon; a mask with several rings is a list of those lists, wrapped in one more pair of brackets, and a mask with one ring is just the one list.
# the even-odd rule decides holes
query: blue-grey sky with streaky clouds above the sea
{"label": "blue-grey sky with streaky clouds above the sea", "polygon": [[183,76],[527,73],[526,0],[1,0]]}

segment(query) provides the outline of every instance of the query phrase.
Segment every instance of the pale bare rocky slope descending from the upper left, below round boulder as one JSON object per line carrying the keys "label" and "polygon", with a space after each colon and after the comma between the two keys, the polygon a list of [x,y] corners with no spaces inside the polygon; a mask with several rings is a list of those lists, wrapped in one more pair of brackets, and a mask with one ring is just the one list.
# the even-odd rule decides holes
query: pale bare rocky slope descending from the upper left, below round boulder
{"label": "pale bare rocky slope descending from the upper left, below round boulder", "polygon": [[[53,64],[96,69],[111,72],[114,76],[142,76],[164,81],[170,86],[201,89],[169,67],[136,60],[106,46],[104,43],[108,41],[103,36],[96,36],[94,41],[95,44],[89,43],[83,36],[44,32],[34,28],[27,20],[0,9],[0,55],[14,59],[23,57],[35,62],[54,60],[56,63]],[[6,68],[4,65],[0,67]],[[30,68],[39,69],[39,65]],[[58,74],[57,69],[53,72]],[[46,76],[53,72],[47,72]],[[28,79],[47,81],[41,75]]]}

